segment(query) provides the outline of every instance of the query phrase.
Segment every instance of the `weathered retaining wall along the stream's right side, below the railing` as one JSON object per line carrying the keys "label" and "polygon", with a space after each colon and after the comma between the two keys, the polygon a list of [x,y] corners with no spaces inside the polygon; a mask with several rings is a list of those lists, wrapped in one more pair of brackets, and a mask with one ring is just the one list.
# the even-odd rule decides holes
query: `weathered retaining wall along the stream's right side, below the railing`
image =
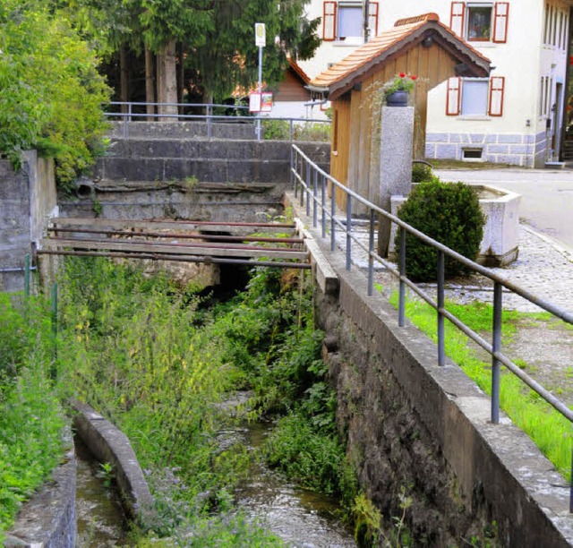
{"label": "weathered retaining wall along the stream's right side, below the railing", "polygon": [[[367,296],[364,274],[309,231],[326,265],[314,261],[317,285],[330,287],[316,303],[338,429],[366,495],[387,518],[410,497],[406,524],[420,543],[484,542],[496,530],[496,545],[569,546],[564,478],[507,416],[491,424],[490,398],[451,361],[438,367],[437,347],[409,322],[399,328],[388,301]],[[338,289],[324,283],[328,270]]]}

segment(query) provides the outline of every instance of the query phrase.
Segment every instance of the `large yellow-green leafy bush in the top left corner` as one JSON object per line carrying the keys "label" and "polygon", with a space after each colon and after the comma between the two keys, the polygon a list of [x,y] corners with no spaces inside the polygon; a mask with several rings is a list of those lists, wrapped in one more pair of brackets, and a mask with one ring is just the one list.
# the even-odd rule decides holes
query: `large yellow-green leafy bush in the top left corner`
{"label": "large yellow-green leafy bush in the top left corner", "polygon": [[69,21],[35,0],[0,7],[0,154],[20,167],[22,150],[56,158],[58,183],[102,153],[108,89],[98,59]]}

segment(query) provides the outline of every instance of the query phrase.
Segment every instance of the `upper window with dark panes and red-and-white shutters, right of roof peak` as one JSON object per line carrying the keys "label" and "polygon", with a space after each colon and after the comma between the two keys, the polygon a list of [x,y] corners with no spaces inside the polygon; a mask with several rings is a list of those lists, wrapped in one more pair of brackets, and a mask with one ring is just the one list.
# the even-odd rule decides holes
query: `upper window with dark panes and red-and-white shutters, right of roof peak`
{"label": "upper window with dark panes and red-and-white shutters, right of roof peak", "polygon": [[449,26],[468,41],[504,43],[508,18],[509,2],[452,2]]}

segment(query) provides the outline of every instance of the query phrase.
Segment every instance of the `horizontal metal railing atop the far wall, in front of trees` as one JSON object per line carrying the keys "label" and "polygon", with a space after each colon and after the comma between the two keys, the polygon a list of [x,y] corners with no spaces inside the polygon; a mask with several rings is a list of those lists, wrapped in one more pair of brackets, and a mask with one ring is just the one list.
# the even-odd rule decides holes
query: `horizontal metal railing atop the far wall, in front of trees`
{"label": "horizontal metal railing atop the far wall, in front of trees", "polygon": [[[174,113],[147,113],[148,106],[154,107],[154,110],[161,110],[164,107],[176,107]],[[257,131],[258,124],[267,120],[278,120],[288,123],[288,141],[295,141],[297,126],[301,124],[326,124],[330,125],[330,120],[316,118],[297,118],[297,117],[278,117],[278,116],[252,116],[249,107],[242,105],[221,105],[217,103],[134,103],[123,101],[112,101],[108,103],[112,109],[119,107],[118,111],[105,111],[104,115],[110,120],[120,119],[124,122],[124,139],[129,138],[129,124],[137,120],[157,121],[161,118],[177,119],[177,121],[204,121],[207,124],[207,138],[212,138],[213,124],[215,123],[240,123],[252,124],[253,138],[261,140],[261,133]],[[122,112],[124,110],[124,112]],[[215,114],[218,111],[226,111],[234,114]]]}

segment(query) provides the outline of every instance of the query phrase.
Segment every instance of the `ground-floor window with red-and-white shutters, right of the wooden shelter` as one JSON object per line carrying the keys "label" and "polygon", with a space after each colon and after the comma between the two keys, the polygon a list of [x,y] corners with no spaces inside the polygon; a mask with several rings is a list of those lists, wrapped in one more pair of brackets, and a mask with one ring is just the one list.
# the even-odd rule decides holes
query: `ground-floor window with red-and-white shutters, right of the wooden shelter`
{"label": "ground-floor window with red-and-white shutters, right of the wooden shelter", "polygon": [[448,116],[503,116],[505,78],[449,78]]}

